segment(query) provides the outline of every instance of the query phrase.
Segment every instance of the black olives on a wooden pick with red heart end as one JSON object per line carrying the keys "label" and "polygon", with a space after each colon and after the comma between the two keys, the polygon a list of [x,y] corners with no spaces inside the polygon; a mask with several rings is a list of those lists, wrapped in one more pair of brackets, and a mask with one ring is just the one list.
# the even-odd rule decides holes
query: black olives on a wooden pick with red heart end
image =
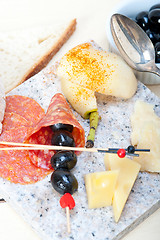
{"label": "black olives on a wooden pick with red heart end", "polygon": [[[72,136],[73,126],[59,123],[51,126],[51,129],[54,132],[51,139],[53,145],[75,147]],[[57,151],[51,157],[51,166],[55,170],[51,175],[51,184],[57,192],[62,194],[60,205],[66,209],[68,233],[71,231],[69,210],[75,207],[72,194],[78,190],[77,179],[70,170],[76,163],[77,156],[74,151]]]}

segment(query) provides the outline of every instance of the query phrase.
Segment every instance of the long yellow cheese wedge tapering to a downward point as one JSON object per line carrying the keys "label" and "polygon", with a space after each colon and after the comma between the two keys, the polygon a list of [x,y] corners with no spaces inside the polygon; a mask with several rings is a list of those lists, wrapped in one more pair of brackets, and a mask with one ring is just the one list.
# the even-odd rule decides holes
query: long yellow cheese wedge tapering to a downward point
{"label": "long yellow cheese wedge tapering to a downward point", "polygon": [[104,163],[107,169],[119,171],[112,203],[114,218],[118,222],[141,166],[128,158],[119,158],[108,153]]}

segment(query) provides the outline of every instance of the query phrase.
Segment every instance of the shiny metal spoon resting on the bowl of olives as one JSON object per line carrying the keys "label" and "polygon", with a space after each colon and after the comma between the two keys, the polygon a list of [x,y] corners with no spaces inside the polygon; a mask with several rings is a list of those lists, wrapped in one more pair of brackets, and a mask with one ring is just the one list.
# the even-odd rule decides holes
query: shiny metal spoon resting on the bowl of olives
{"label": "shiny metal spoon resting on the bowl of olives", "polygon": [[[136,22],[124,15],[114,14],[111,17],[111,32],[122,57],[133,69],[160,76],[160,69],[155,64],[154,46]],[[159,83],[157,80],[154,82]]]}

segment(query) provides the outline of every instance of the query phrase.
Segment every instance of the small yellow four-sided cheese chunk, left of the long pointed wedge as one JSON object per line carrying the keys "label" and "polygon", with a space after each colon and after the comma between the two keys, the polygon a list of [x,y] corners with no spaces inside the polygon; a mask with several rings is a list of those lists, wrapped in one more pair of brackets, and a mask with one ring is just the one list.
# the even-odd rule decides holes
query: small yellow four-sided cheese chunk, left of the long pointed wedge
{"label": "small yellow four-sided cheese chunk, left of the long pointed wedge", "polygon": [[110,206],[119,171],[104,171],[85,175],[89,208]]}

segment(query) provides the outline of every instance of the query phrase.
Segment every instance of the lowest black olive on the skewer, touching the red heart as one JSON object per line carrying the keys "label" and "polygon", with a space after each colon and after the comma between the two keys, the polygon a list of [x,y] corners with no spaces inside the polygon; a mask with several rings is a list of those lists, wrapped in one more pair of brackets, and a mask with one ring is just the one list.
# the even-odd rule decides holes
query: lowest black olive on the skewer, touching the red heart
{"label": "lowest black olive on the skewer, touching the red heart", "polygon": [[51,184],[60,194],[73,194],[78,189],[78,182],[75,176],[63,169],[57,169],[52,173]]}

